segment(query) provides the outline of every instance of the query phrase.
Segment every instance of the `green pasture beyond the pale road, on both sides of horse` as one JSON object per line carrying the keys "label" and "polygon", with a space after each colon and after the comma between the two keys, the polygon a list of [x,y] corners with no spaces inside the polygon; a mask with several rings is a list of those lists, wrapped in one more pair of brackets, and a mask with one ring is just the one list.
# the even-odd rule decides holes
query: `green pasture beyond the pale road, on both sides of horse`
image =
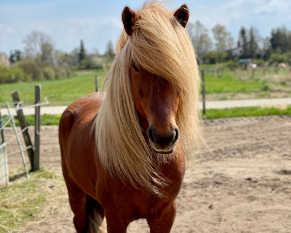
{"label": "green pasture beyond the pale road, on both sides of horse", "polygon": [[[214,65],[201,65],[205,70],[206,100],[234,100],[257,98],[286,98],[291,96],[291,72],[287,69],[258,68],[252,71]],[[11,92],[17,90],[21,100],[27,104],[34,101],[34,85],[42,85],[42,98],[47,97],[50,105],[66,105],[81,96],[95,92],[95,76],[99,77],[99,90],[106,72],[102,69],[75,70],[71,78],[53,81],[6,83],[0,85],[0,102],[12,101]]]}

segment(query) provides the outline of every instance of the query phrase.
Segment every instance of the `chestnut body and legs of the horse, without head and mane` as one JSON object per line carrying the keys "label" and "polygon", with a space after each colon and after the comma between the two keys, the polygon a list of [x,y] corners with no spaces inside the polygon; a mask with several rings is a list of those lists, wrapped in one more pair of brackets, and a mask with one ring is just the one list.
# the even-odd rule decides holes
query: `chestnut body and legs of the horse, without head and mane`
{"label": "chestnut body and legs of the horse, without head and mane", "polygon": [[[171,181],[171,185],[159,187],[160,192],[166,195],[163,197],[112,177],[98,157],[94,158],[95,142],[89,133],[102,102],[98,93],[75,101],[65,111],[60,125],[60,137],[68,139],[61,142],[61,152],[67,155],[62,157],[62,164],[75,226],[81,223],[79,229],[76,227],[77,232],[85,232],[86,195],[98,201],[101,216],[102,209],[105,210],[110,232],[125,232],[128,224],[138,218],[148,219],[149,224],[152,222],[151,228],[156,229],[153,232],[160,232],[159,228],[162,232],[169,232],[176,213],[174,201],[185,171],[185,157],[179,156],[174,162],[157,167],[163,171],[165,179]],[[176,150],[175,153],[179,153],[180,149]]]}

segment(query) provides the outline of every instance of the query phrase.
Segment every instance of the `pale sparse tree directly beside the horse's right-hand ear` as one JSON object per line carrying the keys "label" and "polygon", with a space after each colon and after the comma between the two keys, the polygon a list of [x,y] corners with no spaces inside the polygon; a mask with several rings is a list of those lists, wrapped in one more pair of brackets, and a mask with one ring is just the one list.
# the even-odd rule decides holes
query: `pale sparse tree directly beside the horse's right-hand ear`
{"label": "pale sparse tree directly beside the horse's right-hand ear", "polygon": [[197,60],[201,61],[204,54],[207,53],[212,46],[208,30],[204,28],[203,24],[198,20],[194,24],[189,22],[186,29],[192,40]]}

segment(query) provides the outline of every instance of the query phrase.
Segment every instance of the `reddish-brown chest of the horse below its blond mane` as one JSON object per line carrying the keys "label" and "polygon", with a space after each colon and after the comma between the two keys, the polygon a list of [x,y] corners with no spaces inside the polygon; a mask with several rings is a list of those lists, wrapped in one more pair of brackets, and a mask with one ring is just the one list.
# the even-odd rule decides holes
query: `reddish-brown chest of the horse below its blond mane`
{"label": "reddish-brown chest of the horse below its blond mane", "polygon": [[166,168],[163,170],[171,172],[163,173],[167,185],[158,187],[161,196],[126,185],[108,175],[102,178],[99,176],[97,180],[97,200],[105,212],[123,216],[129,222],[138,218],[149,219],[172,206],[180,190],[185,172],[184,163],[171,166],[171,169]]}

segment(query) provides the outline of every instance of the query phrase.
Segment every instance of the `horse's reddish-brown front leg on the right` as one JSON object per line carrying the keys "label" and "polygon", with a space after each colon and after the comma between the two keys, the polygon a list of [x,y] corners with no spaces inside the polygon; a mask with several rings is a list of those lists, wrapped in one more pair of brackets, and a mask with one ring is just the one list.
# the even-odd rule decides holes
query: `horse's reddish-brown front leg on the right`
{"label": "horse's reddish-brown front leg on the right", "polygon": [[176,216],[176,209],[177,203],[175,200],[168,208],[147,219],[150,233],[170,233]]}

